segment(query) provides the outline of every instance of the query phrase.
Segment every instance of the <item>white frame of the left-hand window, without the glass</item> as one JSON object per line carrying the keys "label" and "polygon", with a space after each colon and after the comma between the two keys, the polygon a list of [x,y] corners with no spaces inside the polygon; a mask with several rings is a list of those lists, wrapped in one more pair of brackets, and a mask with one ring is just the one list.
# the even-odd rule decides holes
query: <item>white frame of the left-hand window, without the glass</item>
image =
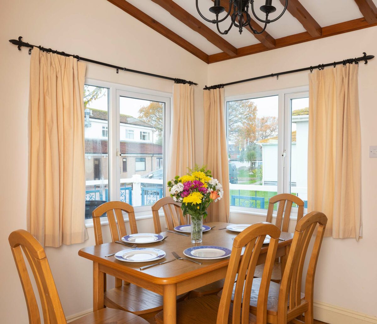
{"label": "white frame of the left-hand window, without the glass", "polygon": [[[169,140],[171,131],[171,109],[173,93],[157,91],[153,89],[137,88],[134,86],[121,85],[118,83],[106,82],[86,78],[86,85],[99,86],[109,89],[109,111],[108,111],[108,157],[109,157],[109,201],[120,200],[120,172],[119,166],[123,157],[117,154],[120,152],[120,96],[158,101],[164,103],[164,140],[163,140],[163,167],[166,170],[167,157],[169,156]],[[134,137],[135,138],[135,137]],[[123,162],[123,161],[122,161]],[[128,166],[127,166],[128,168]],[[166,184],[166,172],[164,172],[163,184]],[[166,186],[162,186],[165,191]],[[134,207],[136,219],[152,218],[151,206]],[[128,221],[127,215],[124,218]],[[83,215],[84,217],[84,215]],[[108,224],[107,220],[101,219],[101,225]],[[93,227],[92,219],[85,219],[86,227]]]}

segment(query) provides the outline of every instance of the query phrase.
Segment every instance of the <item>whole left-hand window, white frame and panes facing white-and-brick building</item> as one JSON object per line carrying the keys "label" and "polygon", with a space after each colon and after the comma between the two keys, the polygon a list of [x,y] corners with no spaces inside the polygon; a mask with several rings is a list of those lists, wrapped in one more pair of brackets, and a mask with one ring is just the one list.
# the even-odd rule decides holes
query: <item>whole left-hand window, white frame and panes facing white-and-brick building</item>
{"label": "whole left-hand window, white frame and panes facing white-and-brick building", "polygon": [[95,80],[86,83],[85,218],[90,222],[92,211],[106,201],[127,202],[136,213],[148,211],[164,197],[170,95]]}

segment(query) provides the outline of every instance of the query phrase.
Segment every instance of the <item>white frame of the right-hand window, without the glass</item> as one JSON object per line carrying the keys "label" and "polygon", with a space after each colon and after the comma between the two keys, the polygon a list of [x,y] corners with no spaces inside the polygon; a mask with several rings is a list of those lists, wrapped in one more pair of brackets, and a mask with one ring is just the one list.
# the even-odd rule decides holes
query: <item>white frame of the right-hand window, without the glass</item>
{"label": "white frame of the right-hand window, without the glass", "polygon": [[[291,153],[291,107],[290,99],[305,97],[303,94],[308,95],[308,86],[298,86],[294,88],[277,89],[270,91],[263,91],[257,93],[241,94],[236,96],[225,97],[225,111],[227,116],[227,140],[228,140],[228,102],[256,99],[261,97],[279,96],[278,99],[278,141],[277,141],[277,194],[290,193],[290,153]],[[289,145],[288,145],[289,144]],[[229,144],[228,144],[229,145]],[[284,157],[285,152],[285,157]],[[289,160],[287,157],[289,156]],[[283,159],[284,163],[283,163]],[[285,165],[285,167],[284,167]],[[268,203],[268,202],[267,202]],[[239,207],[230,205],[230,212],[244,213],[257,216],[267,215],[267,209]],[[307,209],[304,209],[304,214]],[[273,217],[276,216],[276,211],[273,212]],[[297,219],[297,208],[292,208],[290,219]]]}

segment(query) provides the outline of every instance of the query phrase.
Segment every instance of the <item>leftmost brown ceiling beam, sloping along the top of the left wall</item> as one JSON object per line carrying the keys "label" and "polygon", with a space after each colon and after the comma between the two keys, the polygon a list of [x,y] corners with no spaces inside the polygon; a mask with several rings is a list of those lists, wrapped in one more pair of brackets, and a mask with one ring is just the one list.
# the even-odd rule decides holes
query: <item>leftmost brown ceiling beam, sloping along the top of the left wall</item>
{"label": "leftmost brown ceiling beam, sloping along the top of the left wall", "polygon": [[[192,45],[187,40],[183,39],[181,36],[177,35],[175,32],[171,31],[169,28],[166,28],[161,23],[157,22],[155,19],[145,14],[143,11],[139,10],[135,6],[131,5],[125,0],[107,0],[118,8],[122,9],[127,14],[135,17],[137,20],[141,21],[145,25],[154,29],[156,32],[165,36],[167,39],[170,39],[172,42],[184,48],[186,51],[189,51],[191,54],[195,55],[199,59],[208,63],[208,54],[203,52],[201,49]],[[228,55],[228,54],[227,54]]]}

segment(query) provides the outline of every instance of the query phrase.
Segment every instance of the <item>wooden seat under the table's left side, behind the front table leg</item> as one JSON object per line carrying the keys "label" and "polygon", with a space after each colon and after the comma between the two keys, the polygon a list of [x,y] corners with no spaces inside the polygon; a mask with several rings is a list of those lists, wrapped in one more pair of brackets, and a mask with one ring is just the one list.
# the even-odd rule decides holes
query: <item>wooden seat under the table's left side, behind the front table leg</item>
{"label": "wooden seat under the table's left side, behind the front table leg", "polygon": [[[186,295],[177,296],[177,300],[183,300]],[[142,315],[162,310],[163,298],[150,290],[134,284],[126,284],[106,290],[104,304],[106,307]]]}

